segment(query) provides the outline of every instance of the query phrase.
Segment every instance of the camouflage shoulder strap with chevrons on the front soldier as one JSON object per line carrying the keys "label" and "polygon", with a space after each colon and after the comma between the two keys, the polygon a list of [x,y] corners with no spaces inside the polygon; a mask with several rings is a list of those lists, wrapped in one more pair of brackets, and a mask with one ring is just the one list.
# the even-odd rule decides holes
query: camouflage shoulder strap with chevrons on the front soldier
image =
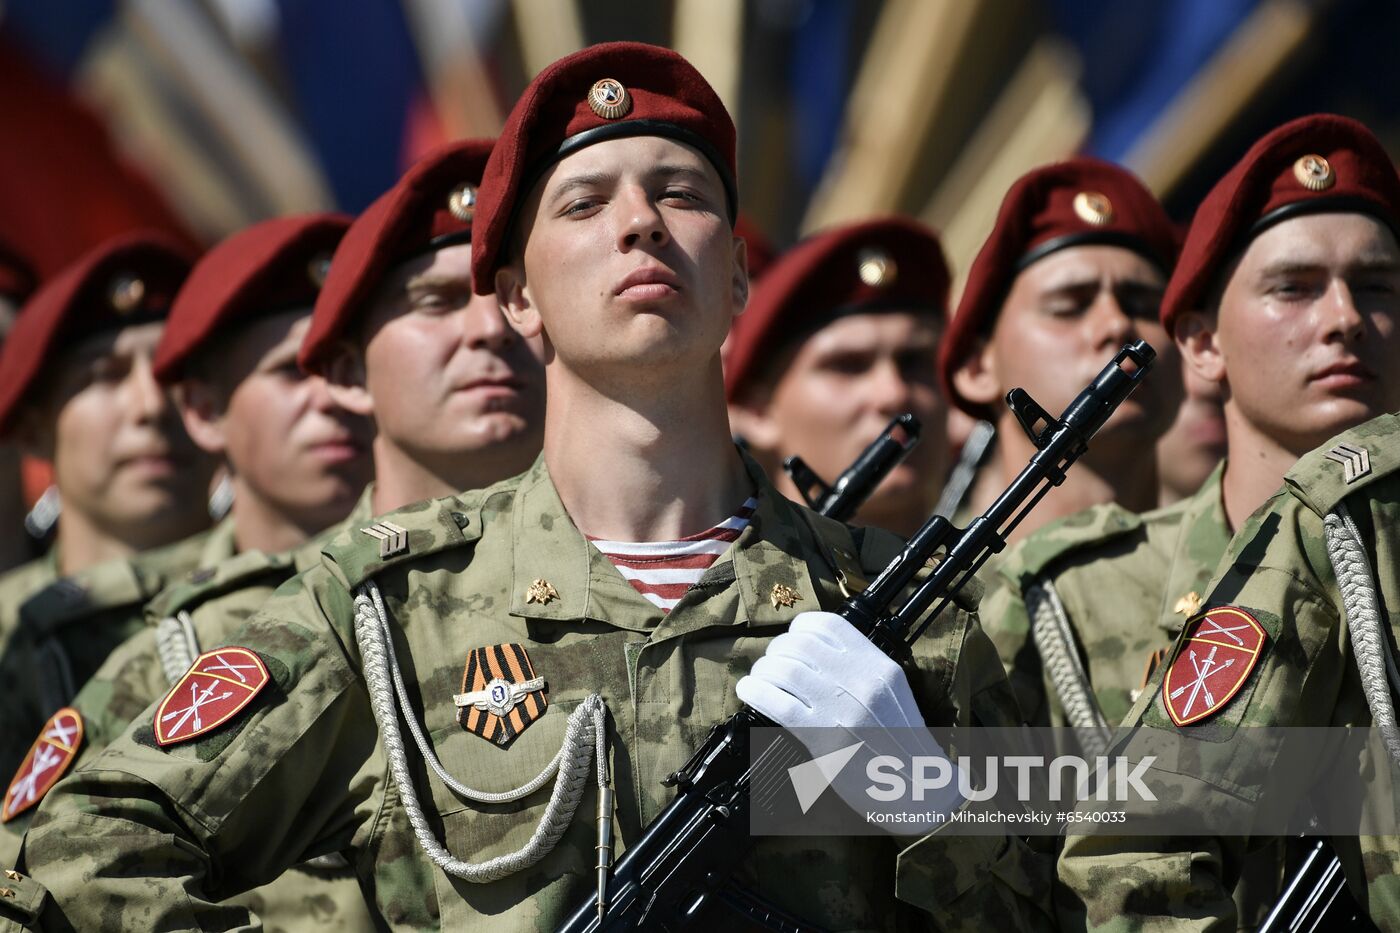
{"label": "camouflage shoulder strap with chevrons on the front soldier", "polygon": [[482,534],[480,493],[406,506],[344,531],[321,549],[322,562],[350,590],[406,560],[456,548]]}

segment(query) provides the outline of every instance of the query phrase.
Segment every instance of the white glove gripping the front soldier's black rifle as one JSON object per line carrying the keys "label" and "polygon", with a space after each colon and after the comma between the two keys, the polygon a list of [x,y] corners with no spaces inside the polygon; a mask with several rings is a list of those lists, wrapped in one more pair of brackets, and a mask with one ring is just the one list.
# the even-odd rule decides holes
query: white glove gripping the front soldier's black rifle
{"label": "white glove gripping the front soldier's black rifle", "polygon": [[[946,761],[948,755],[927,730],[904,671],[834,612],[798,614],[739,679],[735,692],[778,726],[798,730],[794,735],[813,758],[858,738],[862,747],[854,766],[844,768],[833,782],[836,793],[857,813],[913,808],[946,814],[962,803],[956,780],[921,804],[881,801],[869,794],[867,766],[876,756],[911,762],[918,756]],[[958,769],[952,773],[956,776]],[[882,828],[916,835],[928,831],[927,824]]]}

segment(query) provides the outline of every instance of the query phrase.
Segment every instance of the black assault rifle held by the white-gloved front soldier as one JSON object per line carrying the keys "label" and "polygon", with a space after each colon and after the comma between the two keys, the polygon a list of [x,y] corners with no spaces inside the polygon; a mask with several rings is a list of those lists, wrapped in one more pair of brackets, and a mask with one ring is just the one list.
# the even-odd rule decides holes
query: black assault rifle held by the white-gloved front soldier
{"label": "black assault rifle held by the white-gloved front soldier", "polygon": [[[1155,356],[1144,340],[1124,346],[1058,420],[1025,391],[1012,389],[1007,405],[1036,445],[1030,462],[965,530],[953,528],[942,516],[930,518],[862,593],[846,601],[840,614],[886,654],[904,660],[909,646],[958,590],[1005,546],[1011,530],[1064,482],[1065,469],[1084,455],[1095,431],[1142,381]],[[934,558],[941,559],[928,570]],[[909,597],[896,607],[906,591]],[[774,723],[745,706],[710,730],[690,761],[664,782],[676,789],[675,800],[627,849],[610,876],[606,852],[612,814],[599,813],[598,870],[606,891],[599,884],[598,895],[580,904],[561,933],[683,930],[697,925],[809,929],[731,881],[753,845],[749,730],[762,726]],[[805,759],[795,741],[785,745],[792,763]],[[773,748],[764,754],[773,754]]]}

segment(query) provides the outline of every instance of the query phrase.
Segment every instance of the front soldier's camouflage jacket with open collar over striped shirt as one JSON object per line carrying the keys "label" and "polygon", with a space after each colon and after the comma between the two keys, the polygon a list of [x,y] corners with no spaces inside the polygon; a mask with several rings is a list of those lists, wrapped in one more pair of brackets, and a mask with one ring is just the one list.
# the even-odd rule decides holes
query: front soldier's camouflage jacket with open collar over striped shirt
{"label": "front soldier's camouflage jacket with open collar over striped shirt", "polygon": [[[749,527],[669,615],[577,531],[543,459],[486,490],[347,530],[322,566],[283,586],[237,633],[272,675],[244,714],[158,748],[143,713],[41,804],[25,859],[66,915],[50,927],[244,929],[246,915],[214,902],[297,859],[344,852],[391,929],[552,929],[595,884],[592,783],[581,815],[533,867],[484,884],[438,869],[389,775],[354,594],[368,581],[382,593],[412,714],[447,773],[470,787],[529,782],[559,754],[568,713],[601,695],[624,848],[668,803],[661,779],[738,709],[734,684],[767,642],[797,612],[839,605],[830,548],[850,548],[847,560],[858,555],[874,570],[897,546],[802,510],[749,469]],[[402,537],[384,535],[395,528]],[[490,646],[517,663],[528,657],[547,689],[547,703],[510,713],[522,716],[504,747],[465,728],[454,705],[468,689],[468,658]],[[995,653],[966,608],[925,635],[911,684],[931,723],[1014,721]],[[456,857],[479,863],[531,838],[547,786],[517,803],[466,803],[407,748],[428,829]],[[762,839],[741,873],[778,906],[833,930],[927,926],[896,902],[896,887],[951,927],[1015,929],[1016,913],[1030,913],[1028,897],[1046,902],[1049,876],[1036,874],[1019,841],[934,834],[899,849],[872,836]]]}

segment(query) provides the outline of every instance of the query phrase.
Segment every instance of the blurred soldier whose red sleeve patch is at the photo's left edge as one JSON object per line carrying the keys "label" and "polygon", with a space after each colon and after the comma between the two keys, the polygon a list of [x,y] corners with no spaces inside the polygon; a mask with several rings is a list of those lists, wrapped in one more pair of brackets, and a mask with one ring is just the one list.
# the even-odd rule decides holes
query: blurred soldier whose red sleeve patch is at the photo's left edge
{"label": "blurred soldier whose red sleeve patch is at the photo's left edge", "polygon": [[[281,552],[343,518],[368,482],[370,424],[337,409],[322,378],[297,368],[311,304],[349,224],[339,214],[255,224],[202,258],[181,286],[153,370],[174,387],[193,440],[227,465],[232,509],[209,535],[196,572],[155,600],[165,604],[160,625],[118,647],[63,713],[50,710],[56,716],[42,733],[59,719],[81,726],[71,761],[104,748],[160,699],[200,642],[220,644],[291,576],[291,556]],[[197,619],[192,591],[214,604]],[[28,780],[32,759],[15,773],[0,810],[0,863],[14,864],[32,807],[71,761],[42,782]],[[322,916],[342,929],[356,909],[365,913],[358,885],[342,876],[295,873],[248,897],[269,923]],[[364,916],[358,927],[372,925]]]}

